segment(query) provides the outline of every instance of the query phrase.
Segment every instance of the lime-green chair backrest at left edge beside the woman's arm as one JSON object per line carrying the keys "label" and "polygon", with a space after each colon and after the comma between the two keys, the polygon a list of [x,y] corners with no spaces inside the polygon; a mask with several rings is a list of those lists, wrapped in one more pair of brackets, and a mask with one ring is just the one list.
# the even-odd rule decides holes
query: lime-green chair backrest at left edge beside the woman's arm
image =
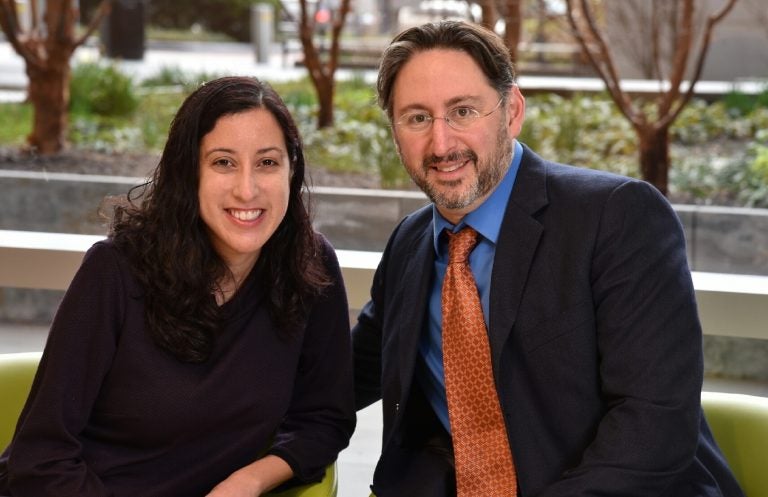
{"label": "lime-green chair backrest at left edge beside the woman's arm", "polygon": [[27,401],[40,352],[0,354],[0,451],[13,438],[16,422]]}

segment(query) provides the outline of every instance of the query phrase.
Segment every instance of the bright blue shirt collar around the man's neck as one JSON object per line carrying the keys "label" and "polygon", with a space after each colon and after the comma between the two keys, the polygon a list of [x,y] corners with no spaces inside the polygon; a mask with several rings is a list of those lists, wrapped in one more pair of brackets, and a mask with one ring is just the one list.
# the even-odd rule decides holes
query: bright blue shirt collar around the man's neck
{"label": "bright blue shirt collar around the man's neck", "polygon": [[435,253],[440,255],[440,233],[444,229],[456,232],[464,226],[470,226],[480,233],[483,238],[489,240],[494,245],[499,238],[501,231],[501,221],[504,219],[504,211],[507,208],[507,202],[512,196],[512,187],[515,185],[517,170],[520,168],[520,161],[523,156],[523,147],[517,140],[514,141],[512,154],[512,163],[509,166],[504,178],[501,180],[491,195],[459,221],[459,224],[453,225],[446,220],[437,210],[435,204],[432,204],[432,226],[434,229],[433,243]]}

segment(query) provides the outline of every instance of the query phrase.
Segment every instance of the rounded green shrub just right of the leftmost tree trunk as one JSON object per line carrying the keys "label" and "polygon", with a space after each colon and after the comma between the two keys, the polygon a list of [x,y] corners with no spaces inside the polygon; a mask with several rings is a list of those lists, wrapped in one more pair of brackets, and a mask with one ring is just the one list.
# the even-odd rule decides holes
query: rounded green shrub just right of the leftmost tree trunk
{"label": "rounded green shrub just right of the leftmost tree trunk", "polygon": [[73,114],[130,116],[138,105],[133,80],[114,65],[85,63],[72,70],[69,109]]}

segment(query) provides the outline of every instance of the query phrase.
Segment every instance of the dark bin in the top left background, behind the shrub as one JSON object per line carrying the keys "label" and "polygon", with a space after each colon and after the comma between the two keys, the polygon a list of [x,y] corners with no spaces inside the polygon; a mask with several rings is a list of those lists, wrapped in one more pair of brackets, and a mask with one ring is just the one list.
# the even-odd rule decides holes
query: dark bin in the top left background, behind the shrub
{"label": "dark bin in the top left background, behind the shrub", "polygon": [[100,27],[107,57],[140,60],[144,58],[145,0],[112,0],[112,9]]}

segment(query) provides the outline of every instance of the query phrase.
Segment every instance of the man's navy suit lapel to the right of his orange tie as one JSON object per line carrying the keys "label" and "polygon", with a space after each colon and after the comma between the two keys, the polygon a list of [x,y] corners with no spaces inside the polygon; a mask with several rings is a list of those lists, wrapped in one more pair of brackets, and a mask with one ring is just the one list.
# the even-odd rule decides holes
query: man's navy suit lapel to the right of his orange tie
{"label": "man's navy suit lapel to the right of his orange tie", "polygon": [[524,147],[520,169],[507,203],[493,261],[489,340],[494,375],[517,318],[533,256],[544,232],[533,214],[546,206],[546,165]]}

